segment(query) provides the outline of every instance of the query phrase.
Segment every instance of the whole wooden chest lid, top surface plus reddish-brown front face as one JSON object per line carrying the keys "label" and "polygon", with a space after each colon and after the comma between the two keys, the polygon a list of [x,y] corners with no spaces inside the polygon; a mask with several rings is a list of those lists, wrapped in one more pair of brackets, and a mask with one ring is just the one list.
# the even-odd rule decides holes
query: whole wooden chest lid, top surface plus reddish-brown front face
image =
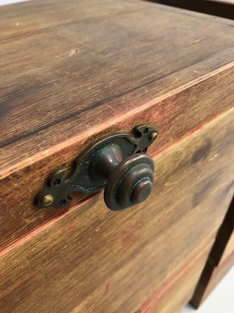
{"label": "whole wooden chest lid, top surface plus reddish-brown front face", "polygon": [[159,130],[154,155],[233,107],[232,21],[121,0],[0,14],[0,248],[64,210],[34,197],[91,141],[143,122]]}

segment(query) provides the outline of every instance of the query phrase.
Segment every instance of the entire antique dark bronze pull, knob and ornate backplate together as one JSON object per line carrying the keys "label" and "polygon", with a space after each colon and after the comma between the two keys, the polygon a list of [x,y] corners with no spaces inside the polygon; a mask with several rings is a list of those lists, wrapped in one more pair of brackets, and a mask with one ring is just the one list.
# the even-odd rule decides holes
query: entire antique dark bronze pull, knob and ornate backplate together
{"label": "entire antique dark bronze pull, knob and ornate backplate together", "polygon": [[95,141],[75,159],[66,177],[64,166],[52,172],[35,203],[40,207],[65,206],[72,201],[71,192],[91,194],[102,188],[106,205],[115,211],[146,200],[153,187],[154,161],[145,152],[158,132],[142,124],[134,130],[134,138],[117,133]]}

